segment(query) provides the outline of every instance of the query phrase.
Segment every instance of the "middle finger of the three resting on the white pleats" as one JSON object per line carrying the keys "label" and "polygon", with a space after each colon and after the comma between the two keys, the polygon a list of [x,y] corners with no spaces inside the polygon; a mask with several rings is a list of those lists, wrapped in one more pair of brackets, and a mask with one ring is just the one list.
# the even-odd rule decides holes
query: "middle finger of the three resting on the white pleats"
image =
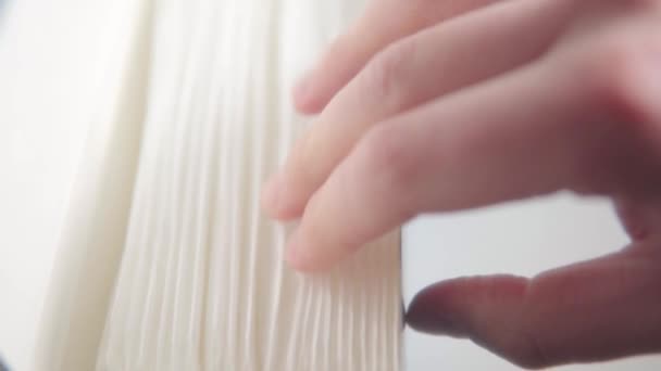
{"label": "middle finger of the three resting on the white pleats", "polygon": [[269,184],[267,194],[277,199],[265,202],[269,213],[278,218],[300,216],[310,195],[375,123],[537,57],[562,28],[571,10],[568,4],[572,3],[504,2],[382,53],[299,140],[279,181]]}

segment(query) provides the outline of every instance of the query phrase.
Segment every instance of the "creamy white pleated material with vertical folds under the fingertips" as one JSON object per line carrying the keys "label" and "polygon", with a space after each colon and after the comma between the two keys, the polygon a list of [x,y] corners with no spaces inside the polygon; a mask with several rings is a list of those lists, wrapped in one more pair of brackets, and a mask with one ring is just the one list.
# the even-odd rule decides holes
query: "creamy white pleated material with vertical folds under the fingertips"
{"label": "creamy white pleated material with vertical folds under the fingertips", "polygon": [[399,234],[303,277],[259,206],[308,121],[289,88],[360,2],[134,3],[35,369],[398,370]]}

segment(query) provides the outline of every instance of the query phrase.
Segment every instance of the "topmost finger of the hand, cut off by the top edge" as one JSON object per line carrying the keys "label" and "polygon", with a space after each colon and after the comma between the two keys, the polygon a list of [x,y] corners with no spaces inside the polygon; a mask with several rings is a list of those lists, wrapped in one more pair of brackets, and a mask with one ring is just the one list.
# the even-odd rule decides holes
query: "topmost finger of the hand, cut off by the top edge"
{"label": "topmost finger of the hand, cut off by the top edge", "polygon": [[365,63],[392,41],[458,14],[498,0],[376,0],[357,24],[340,36],[317,65],[295,87],[303,113],[317,113]]}

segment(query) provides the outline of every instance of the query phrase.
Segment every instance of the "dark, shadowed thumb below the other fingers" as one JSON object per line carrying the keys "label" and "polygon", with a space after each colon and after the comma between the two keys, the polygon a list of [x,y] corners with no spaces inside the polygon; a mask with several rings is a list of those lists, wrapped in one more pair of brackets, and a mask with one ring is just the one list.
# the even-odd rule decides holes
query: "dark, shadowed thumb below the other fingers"
{"label": "dark, shadowed thumb below the other fingers", "polygon": [[420,292],[420,331],[470,337],[526,368],[661,350],[658,245],[628,248],[532,280],[464,278]]}

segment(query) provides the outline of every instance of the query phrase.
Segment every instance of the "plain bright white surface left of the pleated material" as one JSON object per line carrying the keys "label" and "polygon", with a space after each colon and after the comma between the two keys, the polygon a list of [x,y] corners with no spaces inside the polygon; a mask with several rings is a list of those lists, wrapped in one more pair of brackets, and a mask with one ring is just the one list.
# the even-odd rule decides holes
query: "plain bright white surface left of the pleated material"
{"label": "plain bright white surface left of the pleated material", "polygon": [[27,369],[87,136],[103,3],[21,0],[0,16],[0,353],[15,370]]}

